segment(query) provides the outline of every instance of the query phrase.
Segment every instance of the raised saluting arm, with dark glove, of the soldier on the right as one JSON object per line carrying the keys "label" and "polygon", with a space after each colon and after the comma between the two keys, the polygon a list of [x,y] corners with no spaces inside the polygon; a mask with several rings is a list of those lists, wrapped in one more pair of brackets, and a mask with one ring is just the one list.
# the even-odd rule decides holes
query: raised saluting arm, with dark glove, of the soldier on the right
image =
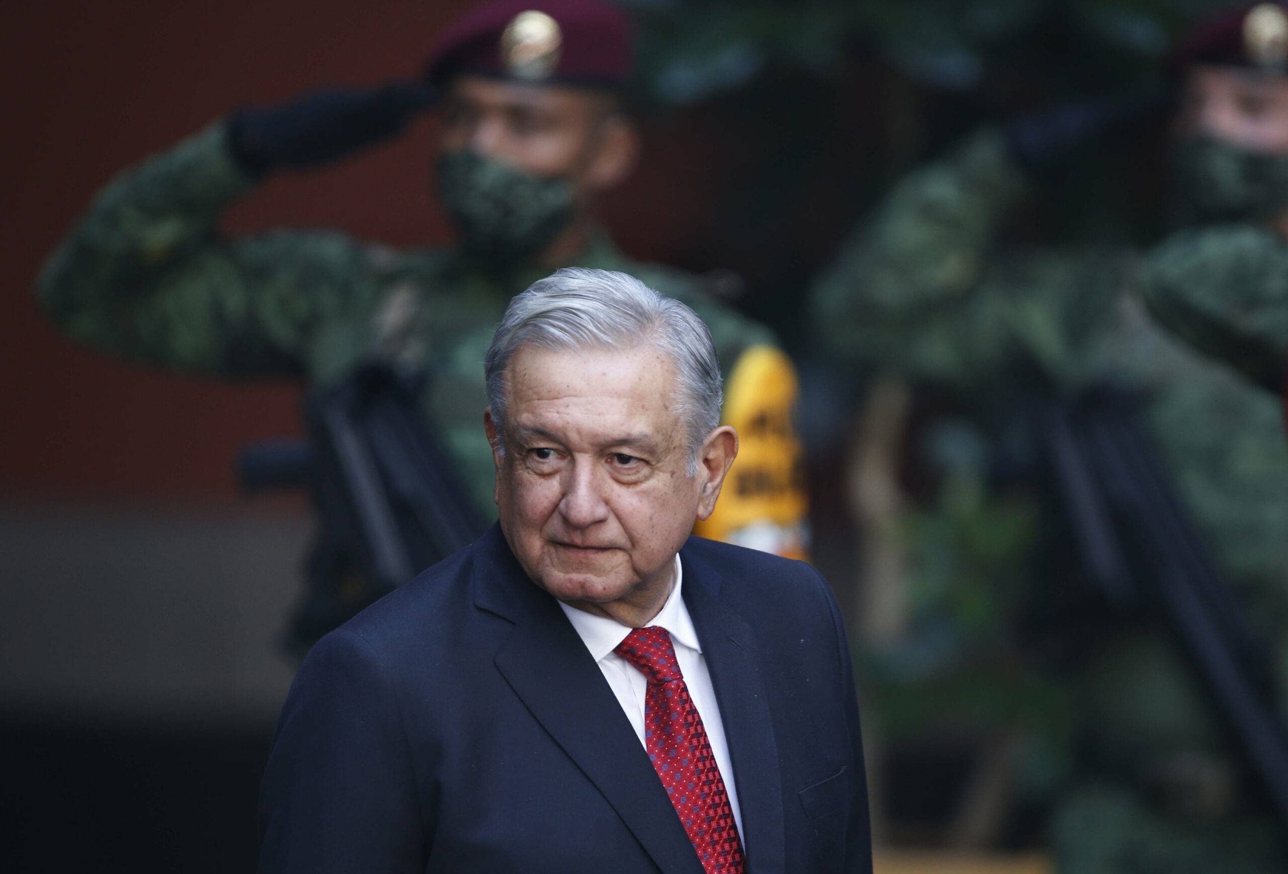
{"label": "raised saluting arm, with dark glove, of the soldier on the right", "polygon": [[[1032,180],[1160,106],[1133,93],[1069,103],[976,131],[899,181],[814,288],[824,350],[918,378],[981,375],[1007,351],[1054,363],[1068,341],[1059,257],[998,257],[1002,223]],[[1016,290],[1024,290],[1018,293]]]}

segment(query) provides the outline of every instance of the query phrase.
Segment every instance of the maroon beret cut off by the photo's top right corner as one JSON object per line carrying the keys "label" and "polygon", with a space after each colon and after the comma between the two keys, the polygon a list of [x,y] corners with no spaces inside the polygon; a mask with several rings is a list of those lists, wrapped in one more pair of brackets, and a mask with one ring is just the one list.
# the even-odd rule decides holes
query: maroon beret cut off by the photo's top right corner
{"label": "maroon beret cut off by the photo's top right corner", "polygon": [[1288,70],[1288,5],[1244,4],[1202,22],[1172,53],[1172,72],[1194,64]]}

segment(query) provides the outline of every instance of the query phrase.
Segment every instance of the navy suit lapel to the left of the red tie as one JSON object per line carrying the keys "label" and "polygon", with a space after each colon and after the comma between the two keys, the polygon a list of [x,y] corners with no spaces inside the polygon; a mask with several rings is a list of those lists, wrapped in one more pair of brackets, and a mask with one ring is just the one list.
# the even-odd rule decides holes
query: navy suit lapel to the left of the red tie
{"label": "navy suit lapel to the left of the red tie", "polygon": [[644,747],[568,618],[523,573],[498,528],[474,548],[475,605],[515,624],[496,655],[497,669],[657,866],[702,874]]}

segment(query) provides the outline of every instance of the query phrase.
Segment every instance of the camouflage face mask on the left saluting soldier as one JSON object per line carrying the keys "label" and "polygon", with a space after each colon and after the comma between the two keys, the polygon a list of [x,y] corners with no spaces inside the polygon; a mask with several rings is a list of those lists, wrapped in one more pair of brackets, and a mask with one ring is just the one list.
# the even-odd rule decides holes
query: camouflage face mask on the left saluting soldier
{"label": "camouflage face mask on the left saluting soldier", "polygon": [[438,196],[461,245],[505,265],[540,252],[573,216],[572,185],[565,179],[536,176],[474,149],[438,160]]}

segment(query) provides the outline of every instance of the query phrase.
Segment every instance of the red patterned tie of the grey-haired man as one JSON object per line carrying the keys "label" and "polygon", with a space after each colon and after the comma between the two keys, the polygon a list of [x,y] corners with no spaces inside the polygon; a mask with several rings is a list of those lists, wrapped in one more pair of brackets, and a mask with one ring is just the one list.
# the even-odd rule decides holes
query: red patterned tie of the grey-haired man
{"label": "red patterned tie of the grey-haired man", "polygon": [[644,745],[706,874],[742,874],[742,842],[707,730],[665,628],[636,628],[613,650],[648,678]]}

